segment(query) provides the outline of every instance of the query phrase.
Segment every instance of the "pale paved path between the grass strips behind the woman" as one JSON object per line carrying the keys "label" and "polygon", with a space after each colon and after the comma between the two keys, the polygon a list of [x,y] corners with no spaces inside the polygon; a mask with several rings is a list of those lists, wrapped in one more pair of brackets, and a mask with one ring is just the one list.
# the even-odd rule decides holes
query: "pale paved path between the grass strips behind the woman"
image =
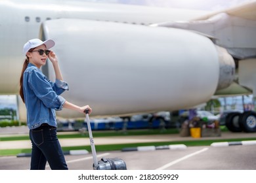
{"label": "pale paved path between the grass strips behind the woman", "polygon": [[[26,126],[20,127],[0,127],[0,137],[13,137],[13,136],[28,136],[29,130]],[[79,131],[58,131],[60,134],[68,133],[79,133]],[[133,136],[121,136],[121,137],[94,137],[95,145],[101,144],[132,144],[139,142],[175,142],[175,141],[198,141],[198,140],[209,140],[209,139],[244,139],[256,137],[256,133],[232,133],[230,131],[221,132],[220,137],[181,137],[178,134],[169,135],[133,135]],[[90,145],[89,137],[83,138],[72,138],[72,139],[59,139],[62,147],[65,146],[88,146]],[[18,149],[18,148],[31,148],[32,144],[30,141],[0,141],[0,150],[2,149]]]}

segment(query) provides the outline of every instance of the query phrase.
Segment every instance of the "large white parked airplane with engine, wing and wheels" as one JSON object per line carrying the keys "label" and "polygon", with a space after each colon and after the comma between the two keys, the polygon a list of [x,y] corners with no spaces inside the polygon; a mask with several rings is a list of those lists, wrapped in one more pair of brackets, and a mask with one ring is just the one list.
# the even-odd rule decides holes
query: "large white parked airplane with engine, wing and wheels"
{"label": "large white parked airplane with engine, wing and wheels", "polygon": [[[256,2],[219,12],[89,3],[0,1],[0,93],[18,94],[26,41],[53,39],[70,91],[92,116],[193,108],[221,95],[256,95]],[[238,64],[239,63],[239,64]],[[50,64],[41,68],[54,80]],[[242,93],[241,93],[242,91]],[[20,120],[26,108],[18,98]],[[62,118],[82,118],[72,110]],[[228,118],[230,130],[237,116]],[[256,131],[255,112],[239,114]],[[249,122],[248,122],[249,120]]]}

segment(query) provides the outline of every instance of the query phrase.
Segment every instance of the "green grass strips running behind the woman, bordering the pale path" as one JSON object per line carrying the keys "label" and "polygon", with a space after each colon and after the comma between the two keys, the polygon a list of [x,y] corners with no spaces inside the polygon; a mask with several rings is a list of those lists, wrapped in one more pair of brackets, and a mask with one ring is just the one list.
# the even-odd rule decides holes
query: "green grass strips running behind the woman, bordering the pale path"
{"label": "green grass strips running behind the woman, bordering the pale path", "polygon": [[[226,127],[221,127],[221,131],[227,131]],[[126,133],[123,131],[94,131],[93,137],[118,137],[118,136],[129,136],[129,135],[163,135],[163,134],[177,134],[179,129],[166,129],[164,131],[160,129],[143,129],[143,130],[128,130]],[[58,135],[58,139],[67,138],[89,138],[88,134],[73,133]],[[15,136],[15,137],[0,137],[0,141],[22,141],[29,140],[28,136]],[[213,142],[234,142],[234,141],[252,141],[256,140],[254,138],[243,138],[243,139],[214,139],[214,140],[204,140],[197,139],[196,141],[169,141],[169,142],[144,142],[144,143],[133,143],[133,144],[106,144],[106,145],[95,145],[97,152],[102,151],[112,151],[112,150],[122,150],[123,148],[132,148],[137,146],[164,146],[170,144],[184,144],[186,146],[209,146]],[[63,151],[69,150],[88,150],[91,152],[91,146],[65,146],[62,147]],[[16,156],[20,153],[31,153],[31,149],[7,149],[0,150],[0,156]]]}

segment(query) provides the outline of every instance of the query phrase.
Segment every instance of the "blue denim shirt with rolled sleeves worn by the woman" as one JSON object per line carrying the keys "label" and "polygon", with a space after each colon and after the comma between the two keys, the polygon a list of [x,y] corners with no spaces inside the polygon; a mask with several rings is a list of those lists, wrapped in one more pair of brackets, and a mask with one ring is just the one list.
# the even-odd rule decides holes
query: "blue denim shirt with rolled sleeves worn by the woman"
{"label": "blue denim shirt with rolled sleeves worn by the woman", "polygon": [[62,110],[66,100],[60,94],[65,90],[68,90],[66,82],[58,79],[52,82],[35,65],[28,64],[23,75],[23,92],[29,129],[43,123],[57,127],[55,110]]}

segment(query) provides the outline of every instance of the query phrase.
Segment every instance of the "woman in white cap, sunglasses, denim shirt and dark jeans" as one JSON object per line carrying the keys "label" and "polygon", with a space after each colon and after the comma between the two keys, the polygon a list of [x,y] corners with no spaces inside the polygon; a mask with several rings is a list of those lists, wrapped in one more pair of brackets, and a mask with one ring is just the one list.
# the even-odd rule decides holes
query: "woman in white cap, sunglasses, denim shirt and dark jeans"
{"label": "woman in white cap, sunglasses, denim shirt and dark jeans", "polygon": [[[89,114],[92,111],[89,105],[78,107],[60,96],[68,90],[68,84],[63,81],[56,55],[48,50],[54,44],[51,39],[44,42],[31,39],[23,48],[26,60],[20,76],[20,96],[27,108],[27,122],[32,141],[30,169],[45,169],[47,161],[51,169],[68,169],[56,136],[55,110],[62,110],[64,107],[78,112],[84,112],[88,108]],[[53,64],[55,82],[48,80],[40,71],[47,58]]]}

